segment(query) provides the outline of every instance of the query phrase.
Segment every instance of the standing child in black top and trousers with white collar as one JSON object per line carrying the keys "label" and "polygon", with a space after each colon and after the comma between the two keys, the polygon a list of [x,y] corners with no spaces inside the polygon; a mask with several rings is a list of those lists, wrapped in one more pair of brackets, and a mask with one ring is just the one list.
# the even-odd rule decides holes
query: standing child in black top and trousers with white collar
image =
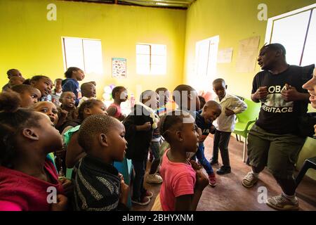
{"label": "standing child in black top and trousers with white collar", "polygon": [[140,103],[134,105],[123,122],[127,140],[126,158],[132,160],[135,170],[131,202],[138,205],[148,205],[153,195],[144,188],[144,175],[152,131],[157,128],[159,119],[148,105],[157,105],[157,95],[151,90],[140,95]]}

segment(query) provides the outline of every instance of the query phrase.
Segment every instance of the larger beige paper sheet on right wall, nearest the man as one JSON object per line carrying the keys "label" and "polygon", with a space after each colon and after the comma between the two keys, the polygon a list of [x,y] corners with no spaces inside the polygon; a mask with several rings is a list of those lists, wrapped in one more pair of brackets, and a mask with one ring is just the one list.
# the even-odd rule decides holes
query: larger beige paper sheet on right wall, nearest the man
{"label": "larger beige paper sheet on right wall, nearest the man", "polygon": [[260,37],[250,37],[239,41],[236,72],[254,72]]}

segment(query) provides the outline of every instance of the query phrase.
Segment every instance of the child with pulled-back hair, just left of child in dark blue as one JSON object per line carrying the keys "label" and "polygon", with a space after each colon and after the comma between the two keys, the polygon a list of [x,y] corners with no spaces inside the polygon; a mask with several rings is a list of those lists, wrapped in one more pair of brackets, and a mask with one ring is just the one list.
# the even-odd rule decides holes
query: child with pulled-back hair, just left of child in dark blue
{"label": "child with pulled-back hair, just left of child in dark blue", "polygon": [[[27,82],[27,80],[25,80],[25,82]],[[41,99],[39,101],[51,101],[51,89],[53,89],[53,82],[49,77],[43,75],[34,76],[29,79],[29,84],[41,91]]]}

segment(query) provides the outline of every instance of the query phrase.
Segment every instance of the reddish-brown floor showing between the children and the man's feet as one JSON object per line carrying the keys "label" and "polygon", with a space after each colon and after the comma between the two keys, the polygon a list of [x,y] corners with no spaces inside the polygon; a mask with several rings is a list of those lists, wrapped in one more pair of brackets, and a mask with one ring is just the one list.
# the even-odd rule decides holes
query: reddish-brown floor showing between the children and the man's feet
{"label": "reddish-brown floor showing between the children and the man's feet", "polygon": [[[213,148],[213,136],[210,135],[206,139],[205,146],[205,155],[209,159]],[[233,137],[230,139],[229,150],[232,172],[223,176],[218,175],[218,184],[215,188],[207,186],[204,189],[197,210],[273,210],[265,203],[258,203],[260,194],[258,191],[266,188],[268,197],[277,195],[281,191],[277,182],[267,170],[260,174],[260,181],[253,188],[247,189],[242,186],[242,178],[250,170],[250,167],[242,162],[242,148],[242,142],[237,142]],[[217,168],[218,166],[213,167],[214,170]],[[132,210],[148,211],[151,209],[154,199],[159,193],[160,185],[146,184],[146,187],[154,193],[152,202],[150,205],[142,207],[133,205]],[[298,186],[297,196],[300,210],[316,210],[316,181],[305,176]]]}

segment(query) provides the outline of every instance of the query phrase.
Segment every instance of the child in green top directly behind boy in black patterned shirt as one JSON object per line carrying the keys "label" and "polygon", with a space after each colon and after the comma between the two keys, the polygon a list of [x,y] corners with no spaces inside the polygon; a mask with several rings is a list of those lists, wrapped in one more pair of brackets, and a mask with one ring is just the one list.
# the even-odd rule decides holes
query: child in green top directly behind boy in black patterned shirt
{"label": "child in green top directly behind boy in black patterned shirt", "polygon": [[77,131],[81,123],[91,115],[107,115],[105,104],[97,99],[89,99],[82,103],[78,108],[78,119],[67,123],[67,132],[63,134],[67,146],[66,166],[72,168],[77,164],[79,159],[83,158],[86,153],[78,144]]}

